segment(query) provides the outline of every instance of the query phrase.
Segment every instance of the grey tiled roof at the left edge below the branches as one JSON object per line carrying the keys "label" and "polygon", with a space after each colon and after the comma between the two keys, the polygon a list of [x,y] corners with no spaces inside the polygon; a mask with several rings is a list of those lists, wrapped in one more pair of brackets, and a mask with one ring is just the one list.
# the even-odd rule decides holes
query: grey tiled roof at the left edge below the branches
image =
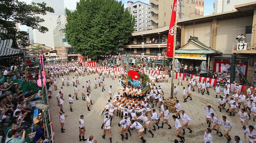
{"label": "grey tiled roof at the left edge below the branches", "polygon": [[0,57],[17,55],[22,52],[21,49],[12,47],[13,40],[1,40],[0,39]]}

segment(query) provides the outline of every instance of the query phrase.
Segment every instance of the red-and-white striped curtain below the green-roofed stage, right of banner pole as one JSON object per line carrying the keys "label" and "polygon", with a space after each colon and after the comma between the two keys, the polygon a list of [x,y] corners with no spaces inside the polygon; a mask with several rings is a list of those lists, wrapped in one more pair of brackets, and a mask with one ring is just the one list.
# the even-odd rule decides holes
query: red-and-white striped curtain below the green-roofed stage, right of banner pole
{"label": "red-and-white striped curtain below the green-roofed stage, right of banner pole", "polygon": [[[182,80],[189,81],[188,78],[185,78],[185,75],[189,75],[189,74],[185,74],[185,73],[175,73],[175,79],[177,79],[179,76],[181,76],[181,77],[182,77]],[[198,82],[198,81],[201,81],[201,82],[204,81],[204,82],[206,83],[206,81],[209,81],[209,83],[210,83],[210,85],[211,85],[212,87],[215,87],[217,81],[223,81],[223,80],[220,80],[220,79],[218,79],[218,78],[201,77],[201,76],[196,76],[196,75],[193,75],[193,74],[190,75],[190,77],[191,77],[191,79],[192,79],[192,78],[196,79],[197,82]]]}

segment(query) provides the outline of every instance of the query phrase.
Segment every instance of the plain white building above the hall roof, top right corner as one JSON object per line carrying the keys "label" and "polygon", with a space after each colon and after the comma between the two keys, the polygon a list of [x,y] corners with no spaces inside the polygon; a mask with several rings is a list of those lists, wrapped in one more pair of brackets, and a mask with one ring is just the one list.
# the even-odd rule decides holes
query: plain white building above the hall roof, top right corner
{"label": "plain white building above the hall roof, top right corner", "polygon": [[215,0],[213,3],[214,13],[236,10],[235,5],[254,2],[255,0]]}

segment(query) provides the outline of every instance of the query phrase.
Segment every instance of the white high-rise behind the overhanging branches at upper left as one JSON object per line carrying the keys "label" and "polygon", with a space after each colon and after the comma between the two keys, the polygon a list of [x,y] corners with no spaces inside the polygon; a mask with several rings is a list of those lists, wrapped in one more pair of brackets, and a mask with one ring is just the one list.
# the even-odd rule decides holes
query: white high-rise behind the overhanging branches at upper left
{"label": "white high-rise behind the overhanging branches at upper left", "polygon": [[28,28],[30,44],[39,43],[45,44],[48,47],[54,48],[53,30],[56,28],[56,20],[59,15],[65,15],[64,0],[33,0],[35,3],[47,3],[47,6],[52,7],[55,13],[47,12],[46,15],[38,14],[45,21],[40,25],[48,28],[48,32],[40,33],[36,29]]}

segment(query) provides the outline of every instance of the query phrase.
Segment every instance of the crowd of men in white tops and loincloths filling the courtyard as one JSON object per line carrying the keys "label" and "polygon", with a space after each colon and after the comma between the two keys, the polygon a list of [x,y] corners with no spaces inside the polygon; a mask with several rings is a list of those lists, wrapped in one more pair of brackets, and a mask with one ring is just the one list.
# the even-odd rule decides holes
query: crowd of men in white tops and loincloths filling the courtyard
{"label": "crowd of men in white tops and loincloths filling the courtyard", "polygon": [[[68,67],[70,69],[67,74],[53,74],[52,78],[61,77],[62,79],[62,87],[58,89],[56,80],[52,80],[52,84],[55,87],[55,90],[59,90],[58,94],[56,95],[58,106],[60,106],[60,123],[61,123],[61,132],[64,133],[65,129],[64,123],[65,118],[67,115],[64,115],[63,112],[63,96],[64,89],[63,86],[70,86],[68,77],[65,78],[64,76],[68,76],[71,72],[75,74],[75,77],[72,78],[72,83],[74,86],[74,95],[68,95],[68,102],[70,103],[70,111],[73,111],[72,104],[74,103],[74,99],[79,100],[77,96],[78,92],[81,91],[82,100],[86,101],[87,110],[90,111],[90,106],[93,103],[93,96],[92,96],[92,88],[94,83],[94,90],[101,90],[104,92],[106,88],[108,89],[109,99],[106,101],[106,105],[102,110],[102,115],[104,115],[102,119],[102,126],[103,135],[102,138],[106,138],[106,133],[108,132],[109,141],[112,143],[112,133],[111,133],[111,122],[112,118],[115,117],[119,118],[120,122],[118,125],[120,126],[120,138],[121,140],[128,140],[128,133],[131,135],[133,132],[133,128],[137,129],[137,136],[138,138],[145,143],[146,138],[144,134],[148,131],[151,134],[151,137],[154,137],[154,132],[157,130],[161,130],[164,128],[164,124],[168,126],[168,129],[175,128],[175,136],[180,138],[180,142],[185,142],[185,129],[189,130],[189,133],[192,133],[192,129],[190,128],[189,123],[192,121],[189,117],[189,113],[186,114],[184,110],[182,110],[182,106],[179,100],[176,100],[175,103],[175,111],[176,114],[172,115],[172,119],[175,122],[175,125],[172,127],[169,123],[169,110],[167,106],[164,106],[164,90],[162,88],[162,83],[168,82],[168,78],[166,74],[162,75],[155,75],[149,74],[149,80],[147,82],[147,86],[149,86],[149,90],[145,91],[142,87],[134,87],[132,85],[126,85],[116,91],[116,95],[112,95],[114,92],[112,91],[112,86],[106,87],[104,84],[105,80],[115,80],[120,76],[120,73],[114,73],[113,71],[107,71],[104,68],[96,69],[96,67],[83,67],[79,66],[77,62],[69,62],[69,63],[59,63],[55,65],[45,65],[45,69],[49,71],[58,71],[61,70],[63,67]],[[65,68],[63,68],[64,70]],[[81,72],[79,72],[81,70]],[[82,72],[83,70],[83,72]],[[52,73],[52,72],[50,72]],[[81,74],[80,74],[81,73]],[[94,81],[86,81],[86,85],[79,84],[79,76],[84,76],[83,73],[87,73],[86,75],[91,74],[98,74],[98,78],[95,78]],[[54,77],[55,76],[55,77]],[[159,77],[159,78],[158,78]],[[65,82],[66,80],[66,82]],[[184,81],[182,81],[181,77],[178,77],[178,84],[174,86],[174,97],[177,99],[177,88],[179,85],[183,86]],[[183,82],[183,83],[182,83]],[[72,84],[71,84],[72,85]],[[79,86],[79,87],[78,87]],[[192,78],[188,81],[188,85],[185,88],[183,87],[183,99],[184,103],[188,102],[187,99],[190,98],[192,100],[193,92],[201,93],[202,95],[210,95],[210,83],[209,81],[204,81],[201,83],[200,81],[197,82],[196,79]],[[50,86],[51,87],[51,86]],[[86,88],[85,88],[86,87]],[[98,89],[99,88],[99,89]],[[80,90],[81,89],[81,90]],[[187,89],[187,90],[186,90]],[[219,136],[224,136],[229,143],[232,139],[230,137],[229,131],[232,129],[232,123],[229,122],[227,118],[239,118],[241,124],[243,125],[244,129],[244,138],[247,139],[250,143],[256,142],[256,131],[254,129],[255,126],[249,125],[246,128],[246,122],[251,119],[251,115],[253,120],[256,119],[256,93],[255,91],[251,93],[250,88],[247,90],[247,94],[245,95],[241,92],[238,95],[239,88],[235,88],[234,95],[230,95],[230,83],[227,82],[225,84],[225,89],[223,93],[220,93],[221,87],[219,84],[215,87],[215,95],[219,106],[218,109],[221,112],[221,109],[224,109],[228,114],[228,116],[223,115],[221,120],[218,120],[215,116],[216,113],[211,108],[211,105],[207,105],[203,107],[205,110],[205,119],[208,126],[205,129],[204,136],[202,137],[205,143],[213,143],[214,135],[211,134],[211,131],[214,130],[219,134]],[[181,95],[181,94],[180,94]],[[192,102],[192,101],[191,101]],[[241,106],[242,105],[242,106]],[[155,107],[155,108],[154,108]],[[158,107],[158,108],[156,108]],[[226,109],[226,108],[227,109]],[[157,112],[159,111],[159,113]],[[115,113],[116,111],[116,113]],[[235,116],[235,113],[238,112],[238,117]],[[162,120],[161,120],[162,118]],[[93,136],[91,135],[89,139],[85,139],[85,125],[84,125],[84,115],[80,116],[79,119],[79,141],[87,141],[88,143],[93,142]],[[181,121],[179,120],[181,119]],[[162,122],[160,122],[162,121]],[[152,124],[151,124],[151,123]],[[160,122],[160,123],[159,123]],[[161,125],[162,123],[162,125]],[[150,128],[150,124],[153,128]],[[159,125],[160,124],[160,125]],[[211,125],[212,124],[212,125]],[[156,129],[157,127],[157,129]],[[224,131],[224,132],[222,132]],[[247,135],[247,136],[246,136]],[[236,143],[241,143],[240,137],[235,135],[234,140]],[[175,140],[177,142],[177,140]],[[94,140],[94,142],[97,142]]]}

